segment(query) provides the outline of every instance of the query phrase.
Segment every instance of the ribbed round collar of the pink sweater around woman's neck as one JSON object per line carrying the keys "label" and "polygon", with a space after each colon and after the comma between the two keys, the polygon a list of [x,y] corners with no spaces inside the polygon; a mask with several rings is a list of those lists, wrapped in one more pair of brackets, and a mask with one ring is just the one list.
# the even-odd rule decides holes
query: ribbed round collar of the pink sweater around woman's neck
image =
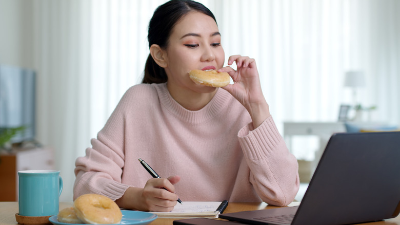
{"label": "ribbed round collar of the pink sweater around woman's neck", "polygon": [[180,118],[182,121],[198,124],[212,119],[220,113],[225,107],[228,107],[231,95],[229,92],[222,88],[218,88],[212,100],[199,110],[188,110],[180,105],[170,95],[167,84],[152,84],[157,90],[157,95],[160,104],[163,108],[167,109],[171,114]]}

